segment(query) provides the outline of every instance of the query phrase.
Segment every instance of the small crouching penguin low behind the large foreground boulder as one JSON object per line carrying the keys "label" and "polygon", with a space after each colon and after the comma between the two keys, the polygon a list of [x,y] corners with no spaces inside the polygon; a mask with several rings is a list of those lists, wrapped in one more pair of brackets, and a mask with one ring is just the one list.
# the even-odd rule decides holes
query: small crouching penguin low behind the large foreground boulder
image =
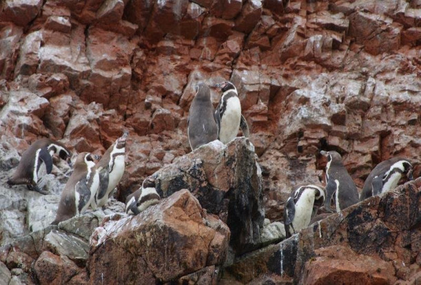
{"label": "small crouching penguin low behind the large foreground boulder", "polygon": [[161,199],[155,188],[155,178],[150,176],[144,180],[141,188],[135,193],[128,195],[126,199],[126,213],[129,215],[137,215],[146,210],[148,206],[159,203]]}

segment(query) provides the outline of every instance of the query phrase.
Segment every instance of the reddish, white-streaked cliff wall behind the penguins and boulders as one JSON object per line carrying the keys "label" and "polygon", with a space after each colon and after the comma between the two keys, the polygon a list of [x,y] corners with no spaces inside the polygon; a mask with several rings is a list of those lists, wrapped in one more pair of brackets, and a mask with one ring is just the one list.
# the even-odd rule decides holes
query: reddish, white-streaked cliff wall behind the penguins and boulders
{"label": "reddish, white-streaked cliff wall behind the penguins and boulders", "polygon": [[[360,189],[373,166],[395,156],[410,159],[419,177],[420,43],[416,0],[6,0],[0,10],[0,178],[6,181],[38,137],[101,154],[127,129],[128,165],[117,193],[124,201],[146,176],[190,152],[186,119],[195,83],[227,79],[239,91],[262,170],[260,216],[264,208],[268,219],[279,220],[292,186],[320,183],[322,148],[341,153]],[[216,106],[219,91],[211,92]],[[56,195],[1,188],[2,244],[46,226],[70,171],[61,170],[46,179]],[[224,189],[222,181],[219,186]],[[260,216],[251,228],[262,226]],[[68,255],[45,255],[52,264],[70,264]],[[4,256],[0,261],[14,268]],[[419,265],[419,259],[409,260]],[[205,262],[200,276],[218,262]]]}

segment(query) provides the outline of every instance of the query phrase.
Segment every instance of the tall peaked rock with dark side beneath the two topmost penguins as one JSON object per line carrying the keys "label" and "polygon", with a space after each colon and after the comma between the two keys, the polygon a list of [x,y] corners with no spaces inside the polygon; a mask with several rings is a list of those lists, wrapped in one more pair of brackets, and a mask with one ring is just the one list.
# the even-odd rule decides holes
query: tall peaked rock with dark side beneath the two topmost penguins
{"label": "tall peaked rock with dark side beneath the two topmost penguins", "polygon": [[226,221],[237,254],[260,244],[264,219],[260,166],[248,144],[244,138],[226,146],[213,141],[154,174],[161,198],[188,188],[206,210]]}

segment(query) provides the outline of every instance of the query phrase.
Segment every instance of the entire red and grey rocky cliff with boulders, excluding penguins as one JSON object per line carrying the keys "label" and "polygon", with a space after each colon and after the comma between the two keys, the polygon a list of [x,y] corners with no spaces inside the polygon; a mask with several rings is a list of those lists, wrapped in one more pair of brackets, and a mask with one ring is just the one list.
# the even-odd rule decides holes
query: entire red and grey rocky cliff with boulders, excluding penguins
{"label": "entire red and grey rocky cliff with boulders, excluding penguins", "polygon": [[[420,1],[6,0],[0,5],[0,279],[99,282],[104,268],[98,266],[111,262],[108,251],[130,253],[130,261],[117,264],[127,266],[129,279],[119,279],[126,282],[137,282],[128,274],[134,270],[150,281],[197,284],[217,282],[222,271],[225,282],[242,283],[268,278],[323,283],[327,275],[342,273],[360,276],[358,282],[417,278],[418,180],[398,192],[403,194],[362,202],[281,244],[282,226],[276,222],[293,186],[322,180],[326,162],[320,149],[342,155],[359,189],[373,166],[390,157],[407,157],[414,177],[420,176]],[[257,156],[242,139],[188,154],[193,86],[226,79],[237,86]],[[219,92],[211,92],[216,105]],[[60,161],[43,181],[50,195],[3,187],[23,150],[39,137],[100,155],[123,128],[130,131],[127,166],[115,197],[124,201],[146,176],[159,175],[164,198],[155,209],[159,217],[143,214],[128,222],[118,214],[123,205],[113,200],[104,210],[48,226],[71,171]],[[179,193],[184,188],[195,197]],[[396,195],[402,199],[391,199]],[[393,214],[405,209],[411,221]],[[166,214],[171,211],[179,213],[179,221],[188,220],[182,234]],[[119,235],[112,228],[126,230]],[[165,259],[158,259],[148,248],[162,245],[130,232],[146,228],[178,242],[187,242],[188,235],[203,240],[193,251],[161,248]],[[322,239],[324,230],[332,241]],[[358,247],[363,241],[353,237],[360,234],[375,246]],[[133,247],[136,242],[146,247]],[[253,263],[255,255],[271,262]],[[173,275],[165,266],[157,269],[180,260]],[[331,273],[324,272],[326,266]],[[364,279],[367,274],[371,279]]]}

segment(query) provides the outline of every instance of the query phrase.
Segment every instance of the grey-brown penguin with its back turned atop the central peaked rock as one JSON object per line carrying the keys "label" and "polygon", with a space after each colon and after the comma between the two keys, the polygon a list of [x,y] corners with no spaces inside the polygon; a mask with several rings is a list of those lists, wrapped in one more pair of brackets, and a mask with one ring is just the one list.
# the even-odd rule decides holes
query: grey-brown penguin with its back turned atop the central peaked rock
{"label": "grey-brown penguin with its back turned atop the central peaked rock", "polygon": [[218,126],[217,115],[210,101],[209,87],[200,83],[188,111],[187,135],[190,148],[195,150],[215,141],[218,138]]}

